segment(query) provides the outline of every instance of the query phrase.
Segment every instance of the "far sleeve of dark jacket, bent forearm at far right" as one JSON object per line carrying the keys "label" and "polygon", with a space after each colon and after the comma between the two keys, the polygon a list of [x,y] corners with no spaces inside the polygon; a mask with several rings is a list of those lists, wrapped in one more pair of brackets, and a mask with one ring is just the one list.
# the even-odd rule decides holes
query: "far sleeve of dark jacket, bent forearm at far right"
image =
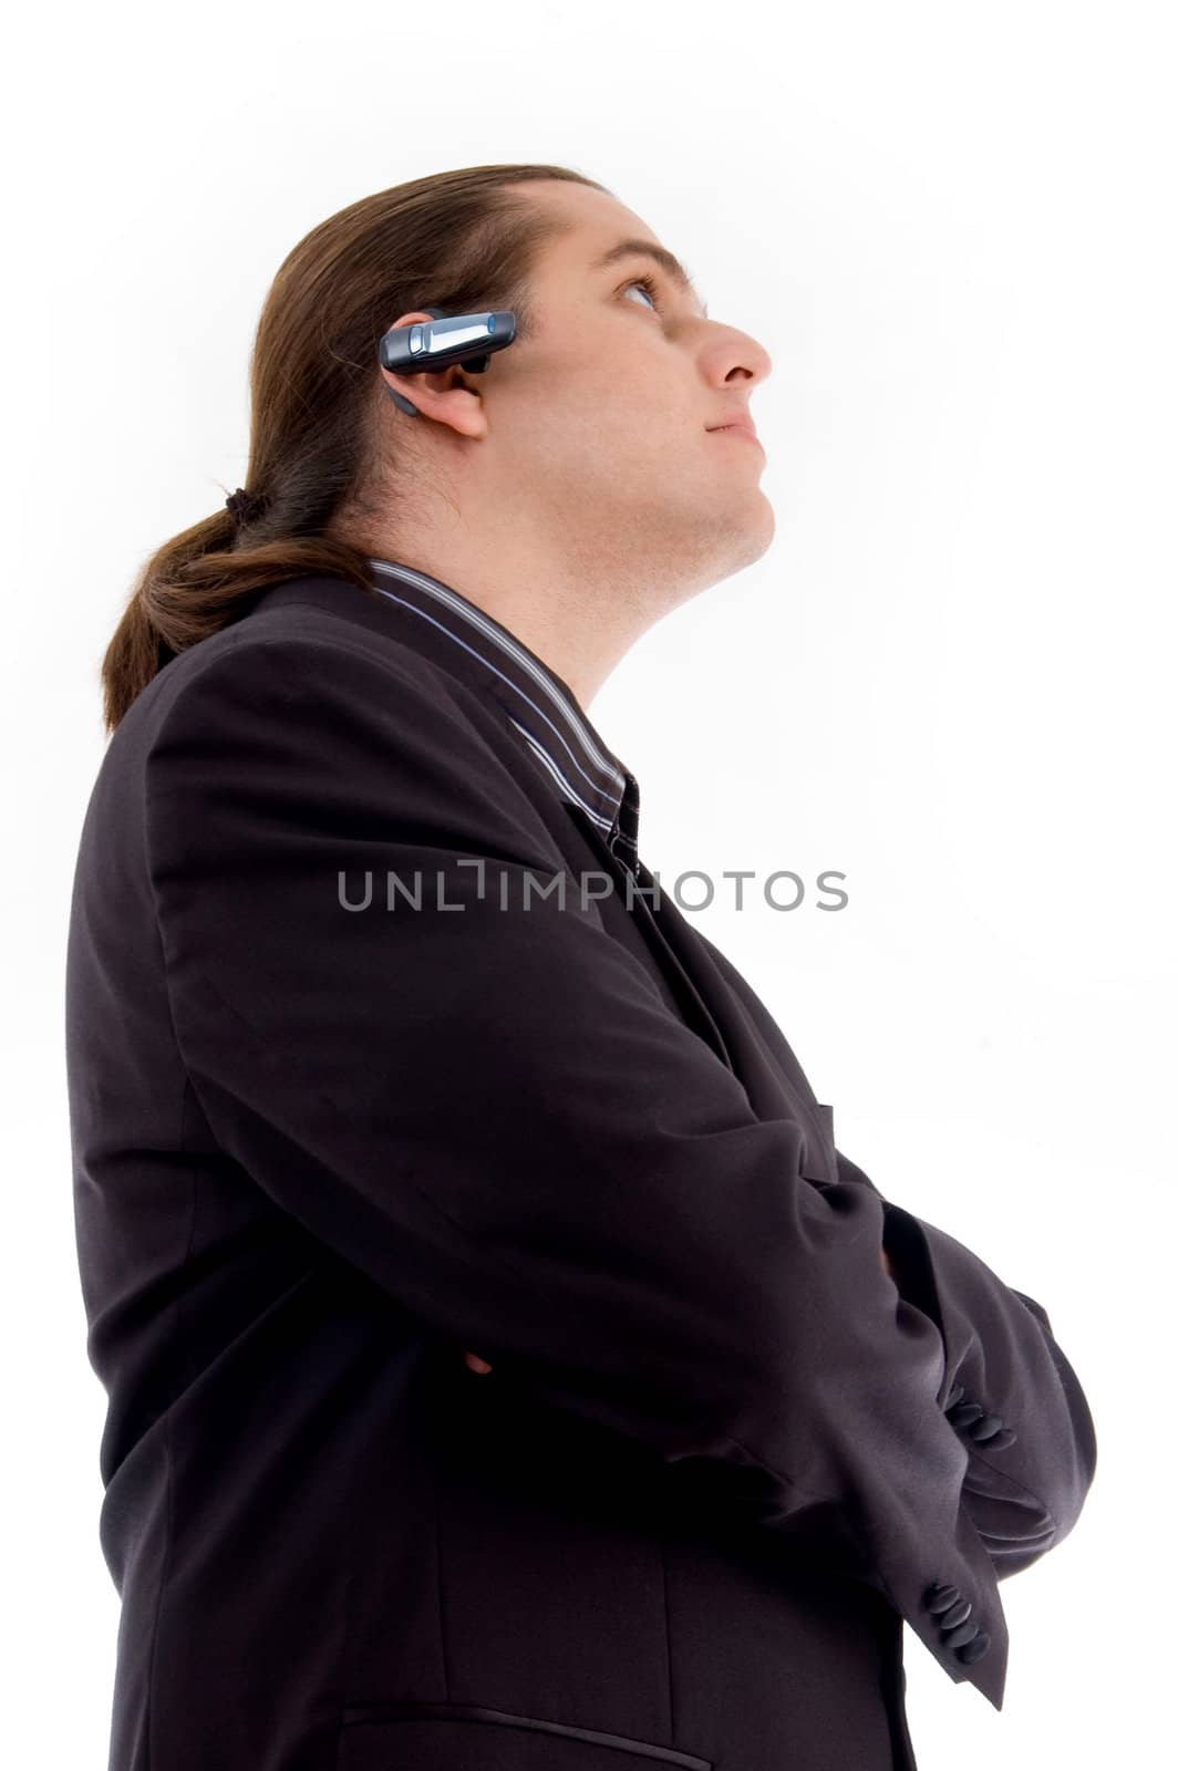
{"label": "far sleeve of dark jacket, bent forearm at far right", "polygon": [[[838,1172],[866,1179],[841,1151]],[[1004,1580],[1081,1516],[1097,1470],[1088,1399],[1043,1305],[948,1231],[884,1201],[884,1247],[902,1295],[941,1330],[937,1401],[969,1452],[962,1505]]]}

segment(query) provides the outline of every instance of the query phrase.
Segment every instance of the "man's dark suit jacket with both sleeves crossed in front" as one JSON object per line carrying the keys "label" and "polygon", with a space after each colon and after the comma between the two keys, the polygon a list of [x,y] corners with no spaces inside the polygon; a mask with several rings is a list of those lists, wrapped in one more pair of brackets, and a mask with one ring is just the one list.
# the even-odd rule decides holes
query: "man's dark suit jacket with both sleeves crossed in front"
{"label": "man's dark suit jacket with both sleeves crossed in front", "polygon": [[900,1622],[1001,1707],[1081,1387],[425,627],[266,592],[87,811],[112,1771],[911,1766]]}

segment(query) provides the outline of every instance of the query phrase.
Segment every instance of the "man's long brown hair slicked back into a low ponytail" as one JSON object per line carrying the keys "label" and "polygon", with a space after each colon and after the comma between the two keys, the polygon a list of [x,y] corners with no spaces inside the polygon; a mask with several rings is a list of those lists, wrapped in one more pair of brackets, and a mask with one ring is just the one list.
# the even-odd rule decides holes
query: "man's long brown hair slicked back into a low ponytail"
{"label": "man's long brown hair slicked back into a low ponytail", "polygon": [[379,445],[377,344],[400,313],[434,306],[510,308],[528,336],[528,278],[565,223],[508,189],[524,179],[606,189],[567,166],[461,166],[361,197],[287,255],[250,358],[257,514],[237,524],[221,508],[151,554],[103,657],[108,733],[170,659],[241,620],[267,584],[305,572],[370,583],[363,549],[328,524],[342,507],[374,514],[367,499],[397,483]]}

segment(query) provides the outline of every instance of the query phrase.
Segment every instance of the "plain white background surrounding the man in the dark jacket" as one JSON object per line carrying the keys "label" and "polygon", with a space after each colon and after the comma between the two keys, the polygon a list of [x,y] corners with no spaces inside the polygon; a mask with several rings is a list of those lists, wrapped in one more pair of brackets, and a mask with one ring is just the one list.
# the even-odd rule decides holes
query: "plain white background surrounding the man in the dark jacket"
{"label": "plain white background surrounding the man in the dark jacket", "polygon": [[[4,119],[21,1771],[103,1771],[113,1674],[62,1022],[99,659],[143,558],[241,483],[246,354],[289,248],[365,193],[491,161],[604,182],[772,356],[753,411],[776,540],[647,634],[592,719],[639,777],[647,864],[717,880],[691,914],[834,1103],[840,1148],[1047,1307],[1097,1420],[1073,1535],[1003,1585],[1003,1713],[907,1633],[921,1771],[1166,1757],[1171,25],[1125,0],[23,12]],[[735,912],[725,868],[836,868],[849,905]]]}

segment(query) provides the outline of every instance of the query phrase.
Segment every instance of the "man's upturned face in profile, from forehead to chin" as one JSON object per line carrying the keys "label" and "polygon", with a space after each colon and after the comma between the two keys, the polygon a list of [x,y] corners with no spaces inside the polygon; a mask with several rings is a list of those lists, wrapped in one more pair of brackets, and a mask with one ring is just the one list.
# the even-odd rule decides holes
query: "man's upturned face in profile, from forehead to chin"
{"label": "man's upturned face in profile, from forehead to chin", "polygon": [[682,590],[758,560],[774,533],[763,450],[709,427],[733,407],[756,416],[769,354],[707,319],[657,262],[597,264],[625,239],[659,244],[616,198],[556,179],[515,189],[572,227],[537,260],[535,333],[491,358],[478,480],[491,475],[537,538],[599,572],[638,567]]}

